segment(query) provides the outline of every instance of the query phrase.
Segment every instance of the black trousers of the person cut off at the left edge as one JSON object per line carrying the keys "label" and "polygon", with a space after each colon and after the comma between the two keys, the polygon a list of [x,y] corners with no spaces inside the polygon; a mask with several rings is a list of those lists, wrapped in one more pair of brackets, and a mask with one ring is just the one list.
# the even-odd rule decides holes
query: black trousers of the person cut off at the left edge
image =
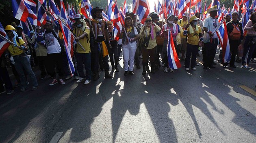
{"label": "black trousers of the person cut off at the left edge", "polygon": [[7,90],[13,90],[13,84],[11,84],[11,79],[6,67],[0,67],[0,78],[0,92],[4,91],[4,86],[2,83],[5,84],[5,88]]}

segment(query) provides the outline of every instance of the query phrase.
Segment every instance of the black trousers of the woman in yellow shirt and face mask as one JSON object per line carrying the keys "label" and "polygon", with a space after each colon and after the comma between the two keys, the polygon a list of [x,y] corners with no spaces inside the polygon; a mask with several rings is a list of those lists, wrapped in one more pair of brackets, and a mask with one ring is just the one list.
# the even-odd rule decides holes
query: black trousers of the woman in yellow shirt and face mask
{"label": "black trousers of the woman in yellow shirt and face mask", "polygon": [[198,53],[198,45],[191,45],[187,43],[187,53],[185,59],[185,68],[189,68],[190,55],[191,57],[191,68],[195,67],[196,55]]}

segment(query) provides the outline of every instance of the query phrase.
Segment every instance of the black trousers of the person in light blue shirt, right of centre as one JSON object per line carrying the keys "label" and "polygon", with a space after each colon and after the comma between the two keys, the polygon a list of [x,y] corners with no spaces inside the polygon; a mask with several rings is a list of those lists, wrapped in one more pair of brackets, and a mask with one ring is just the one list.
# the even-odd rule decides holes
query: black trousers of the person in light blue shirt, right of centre
{"label": "black trousers of the person in light blue shirt, right of centre", "polygon": [[218,46],[218,38],[212,39],[212,43],[204,43],[204,55],[203,62],[204,67],[211,67],[213,65],[213,60],[216,54]]}

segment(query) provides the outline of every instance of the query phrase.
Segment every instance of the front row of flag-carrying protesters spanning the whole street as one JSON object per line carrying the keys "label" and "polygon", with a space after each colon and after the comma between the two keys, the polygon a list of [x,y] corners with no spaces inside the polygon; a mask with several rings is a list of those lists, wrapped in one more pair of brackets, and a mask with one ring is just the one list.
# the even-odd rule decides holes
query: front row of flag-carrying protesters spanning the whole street
{"label": "front row of flag-carrying protesters spanning the whole street", "polygon": [[[119,40],[114,37],[112,22],[102,19],[102,9],[99,7],[91,10],[93,17],[91,21],[77,14],[71,29],[76,36],[72,43],[74,44],[72,58],[76,69],[73,73],[74,78],[77,83],[89,84],[91,80],[99,79],[99,70],[102,70],[105,78],[111,79],[109,61],[111,71],[119,72],[121,52],[124,76],[134,74],[134,65],[140,69],[141,59],[142,75],[149,71],[155,74],[156,69],[160,69],[161,66],[163,72],[174,72],[174,69],[169,67],[167,55],[169,31],[171,31],[176,53],[180,60],[184,60],[187,71],[196,70],[196,66],[199,65],[196,57],[200,56],[201,48],[203,68],[215,68],[214,58],[217,47],[220,49],[218,62],[224,68],[228,64],[230,64],[229,67],[235,68],[236,61],[241,63],[241,67],[249,69],[250,62],[256,62],[254,60],[256,58],[256,13],[251,13],[244,27],[240,22],[239,12],[225,15],[231,59],[230,62],[224,62],[223,51],[215,32],[219,25],[216,19],[218,11],[217,8],[209,8],[207,11],[209,16],[204,21],[200,20],[201,13],[195,13],[191,17],[188,13],[184,13],[182,19],[172,14],[168,14],[166,19],[159,19],[156,13],[150,13],[144,25],[138,22],[137,15],[127,12]],[[50,12],[47,12],[47,15],[54,19]],[[52,78],[50,86],[57,83],[63,85],[65,80],[72,78],[58,21],[47,20],[45,25],[35,28],[35,33],[31,31],[30,37],[22,31],[23,27],[17,26],[14,22],[5,27],[7,38],[20,47],[11,44],[0,58],[0,81],[2,82],[0,93],[7,91],[7,94],[11,94],[13,88],[18,86],[21,87],[20,91],[25,91],[29,85],[32,85],[32,90],[36,90],[39,86],[37,80],[46,78],[47,74]],[[243,55],[238,55],[240,45],[243,47]],[[14,85],[9,78],[11,73],[7,71],[7,60],[11,62],[11,69],[15,76]],[[148,63],[150,63],[150,70]],[[39,78],[32,70],[37,65],[41,71]],[[58,79],[56,73],[58,73]]]}

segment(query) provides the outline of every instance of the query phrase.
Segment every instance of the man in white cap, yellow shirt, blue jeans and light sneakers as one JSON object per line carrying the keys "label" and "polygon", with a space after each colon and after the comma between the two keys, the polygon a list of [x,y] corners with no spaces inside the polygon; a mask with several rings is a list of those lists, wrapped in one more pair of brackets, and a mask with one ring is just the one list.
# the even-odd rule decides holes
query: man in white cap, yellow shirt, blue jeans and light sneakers
{"label": "man in white cap, yellow shirt, blue jeans and light sneakers", "polygon": [[[91,48],[90,48],[90,28],[87,26],[82,15],[76,15],[76,24],[73,25],[73,33],[77,36],[76,42],[80,42],[76,46],[76,61],[79,79],[77,83],[85,81],[84,84],[91,82]],[[85,64],[85,74],[82,63]]]}

